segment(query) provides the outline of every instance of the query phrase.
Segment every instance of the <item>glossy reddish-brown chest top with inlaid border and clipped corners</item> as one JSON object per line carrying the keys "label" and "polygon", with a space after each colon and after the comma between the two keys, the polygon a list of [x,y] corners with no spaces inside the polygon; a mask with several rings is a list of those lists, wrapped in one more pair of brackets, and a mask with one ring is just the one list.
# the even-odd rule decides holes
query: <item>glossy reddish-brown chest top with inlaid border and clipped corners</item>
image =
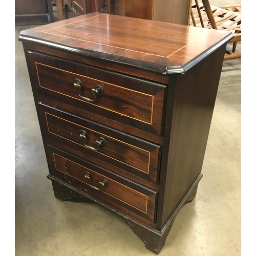
{"label": "glossy reddish-brown chest top with inlaid border and clipped corners", "polygon": [[232,37],[231,32],[94,12],[22,31],[19,40],[170,74],[186,72]]}

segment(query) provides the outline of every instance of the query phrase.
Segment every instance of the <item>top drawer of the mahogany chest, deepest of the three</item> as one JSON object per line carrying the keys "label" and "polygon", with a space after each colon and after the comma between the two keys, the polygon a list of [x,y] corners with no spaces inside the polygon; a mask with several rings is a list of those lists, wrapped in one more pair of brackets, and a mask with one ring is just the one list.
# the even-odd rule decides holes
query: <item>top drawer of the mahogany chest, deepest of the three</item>
{"label": "top drawer of the mahogany chest, deepest of the three", "polygon": [[40,93],[162,135],[166,85],[32,51],[29,59]]}

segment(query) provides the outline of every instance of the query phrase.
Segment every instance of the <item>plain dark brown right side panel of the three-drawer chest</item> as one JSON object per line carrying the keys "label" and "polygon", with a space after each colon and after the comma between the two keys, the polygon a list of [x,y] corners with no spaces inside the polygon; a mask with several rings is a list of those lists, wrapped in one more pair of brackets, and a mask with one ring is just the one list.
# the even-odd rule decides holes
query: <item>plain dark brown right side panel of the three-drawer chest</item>
{"label": "plain dark brown right side panel of the three-drawer chest", "polygon": [[161,176],[163,179],[160,178],[159,183],[164,193],[158,204],[159,211],[162,211],[157,220],[159,229],[172,215],[187,187],[201,173],[222,69],[217,63],[222,61],[224,53],[225,46],[186,75],[174,78],[176,86],[167,98],[173,106],[172,113],[166,113],[165,126],[170,127],[170,133],[166,133],[163,140],[161,167],[169,172]]}

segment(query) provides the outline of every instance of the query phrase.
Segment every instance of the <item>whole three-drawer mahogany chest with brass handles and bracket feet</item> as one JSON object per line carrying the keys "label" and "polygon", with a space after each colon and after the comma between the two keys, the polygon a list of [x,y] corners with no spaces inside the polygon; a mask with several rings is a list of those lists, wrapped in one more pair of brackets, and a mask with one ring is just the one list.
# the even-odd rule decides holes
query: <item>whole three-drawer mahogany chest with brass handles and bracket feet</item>
{"label": "whole three-drawer mahogany chest with brass handles and bracket feet", "polygon": [[158,253],[196,196],[231,38],[102,13],[22,31],[55,197],[115,212]]}

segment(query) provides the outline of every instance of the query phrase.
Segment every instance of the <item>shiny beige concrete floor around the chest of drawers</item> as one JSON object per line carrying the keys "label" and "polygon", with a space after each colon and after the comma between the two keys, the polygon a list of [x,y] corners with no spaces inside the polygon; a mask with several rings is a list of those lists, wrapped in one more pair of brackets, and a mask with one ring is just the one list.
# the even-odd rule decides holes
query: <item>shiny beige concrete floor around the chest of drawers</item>
{"label": "shiny beige concrete floor around the chest of drawers", "polygon": [[[54,197],[17,41],[29,27],[15,27],[15,255],[155,255],[112,212]],[[241,59],[233,59],[223,63],[197,197],[179,212],[159,255],[241,255],[240,153]]]}

